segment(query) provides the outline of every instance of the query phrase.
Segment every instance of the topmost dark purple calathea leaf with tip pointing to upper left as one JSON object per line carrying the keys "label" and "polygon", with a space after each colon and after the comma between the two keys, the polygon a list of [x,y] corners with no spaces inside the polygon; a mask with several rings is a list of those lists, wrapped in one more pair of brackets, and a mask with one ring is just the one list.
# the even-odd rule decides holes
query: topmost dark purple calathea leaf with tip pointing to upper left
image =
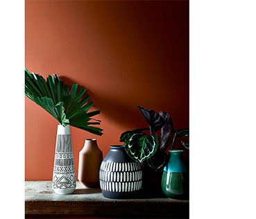
{"label": "topmost dark purple calathea leaf with tip pointing to upper left", "polygon": [[157,132],[158,130],[160,130],[160,128],[164,126],[164,119],[162,118],[162,116],[160,116],[160,114],[157,114],[157,112],[155,112],[153,109],[148,110],[144,107],[139,106],[138,108],[139,111],[142,113],[144,119],[146,119],[148,125],[150,125],[151,128],[153,129],[153,131]]}

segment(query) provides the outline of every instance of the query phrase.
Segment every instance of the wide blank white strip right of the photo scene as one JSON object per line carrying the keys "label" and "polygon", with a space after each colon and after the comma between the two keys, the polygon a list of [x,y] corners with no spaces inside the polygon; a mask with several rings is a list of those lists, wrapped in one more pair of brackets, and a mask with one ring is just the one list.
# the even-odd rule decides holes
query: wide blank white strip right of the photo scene
{"label": "wide blank white strip right of the photo scene", "polygon": [[190,218],[255,218],[256,1],[190,1]]}

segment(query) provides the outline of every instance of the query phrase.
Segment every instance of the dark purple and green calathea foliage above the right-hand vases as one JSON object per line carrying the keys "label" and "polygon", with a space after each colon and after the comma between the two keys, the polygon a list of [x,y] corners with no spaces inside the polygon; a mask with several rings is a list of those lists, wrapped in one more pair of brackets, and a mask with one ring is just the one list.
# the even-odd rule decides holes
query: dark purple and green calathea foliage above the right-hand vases
{"label": "dark purple and green calathea foliage above the right-hand vases", "polygon": [[[124,142],[126,152],[135,161],[144,164],[147,161],[155,171],[166,166],[168,161],[167,148],[174,146],[177,137],[188,135],[188,129],[175,131],[173,121],[167,112],[159,114],[153,109],[139,107],[139,111],[148,123],[148,128],[139,128],[121,134],[120,141]],[[149,130],[149,134],[146,132]],[[160,132],[160,134],[157,134]],[[173,139],[171,138],[174,134]],[[185,143],[184,143],[185,144]],[[187,145],[185,144],[187,147]]]}

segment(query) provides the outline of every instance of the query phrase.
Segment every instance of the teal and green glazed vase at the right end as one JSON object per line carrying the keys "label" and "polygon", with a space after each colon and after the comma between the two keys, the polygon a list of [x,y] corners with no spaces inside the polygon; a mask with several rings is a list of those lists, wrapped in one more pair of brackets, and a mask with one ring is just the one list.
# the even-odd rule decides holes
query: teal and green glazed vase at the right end
{"label": "teal and green glazed vase at the right end", "polygon": [[162,191],[168,198],[189,199],[189,170],[182,160],[183,150],[169,150],[170,159],[162,175]]}

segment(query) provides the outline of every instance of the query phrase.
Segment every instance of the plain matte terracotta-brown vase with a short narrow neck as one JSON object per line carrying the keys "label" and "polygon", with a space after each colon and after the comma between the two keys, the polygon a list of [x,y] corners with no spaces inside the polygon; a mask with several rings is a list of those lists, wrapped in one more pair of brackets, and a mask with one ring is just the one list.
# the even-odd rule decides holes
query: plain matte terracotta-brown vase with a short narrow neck
{"label": "plain matte terracotta-brown vase with a short narrow neck", "polygon": [[87,189],[99,188],[99,170],[103,155],[96,139],[85,139],[79,152],[78,180]]}

